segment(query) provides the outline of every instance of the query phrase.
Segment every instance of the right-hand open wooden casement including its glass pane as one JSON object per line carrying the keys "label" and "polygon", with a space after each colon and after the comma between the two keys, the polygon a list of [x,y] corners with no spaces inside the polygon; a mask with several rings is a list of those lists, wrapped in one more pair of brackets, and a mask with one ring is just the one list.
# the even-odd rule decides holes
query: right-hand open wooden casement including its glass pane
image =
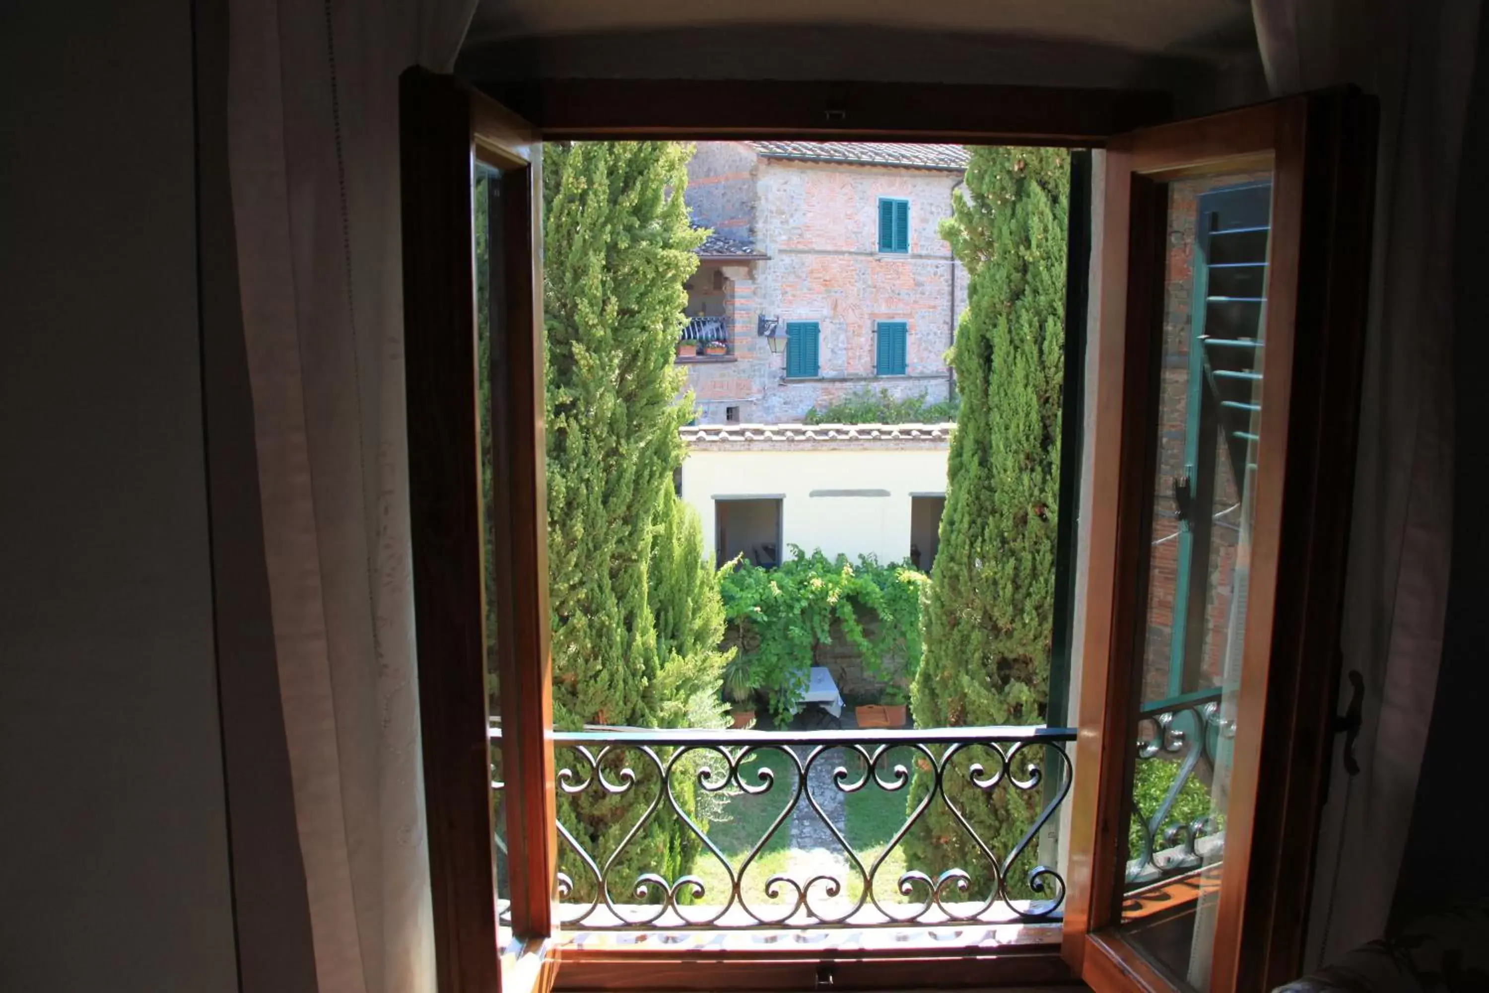
{"label": "right-hand open wooden casement including its glass pane", "polygon": [[1096,990],[1295,975],[1337,679],[1371,130],[1351,94],[1114,137],[1072,893]]}

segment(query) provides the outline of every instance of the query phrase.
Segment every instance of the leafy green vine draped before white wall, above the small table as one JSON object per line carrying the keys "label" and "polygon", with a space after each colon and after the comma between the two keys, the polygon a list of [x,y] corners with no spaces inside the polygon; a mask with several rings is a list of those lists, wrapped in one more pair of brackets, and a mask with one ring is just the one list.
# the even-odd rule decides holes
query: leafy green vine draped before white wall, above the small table
{"label": "leafy green vine draped before white wall, above the small table", "polygon": [[[783,724],[807,691],[819,645],[832,639],[837,622],[843,637],[864,658],[871,676],[887,679],[884,660],[905,660],[913,679],[920,665],[920,601],[926,576],[908,564],[880,566],[861,557],[858,566],[820,551],[804,554],[791,546],[791,558],[761,569],[737,558],[722,572],[724,615],[737,625],[747,683],[765,692],[771,716]],[[870,633],[864,618],[879,618]]]}

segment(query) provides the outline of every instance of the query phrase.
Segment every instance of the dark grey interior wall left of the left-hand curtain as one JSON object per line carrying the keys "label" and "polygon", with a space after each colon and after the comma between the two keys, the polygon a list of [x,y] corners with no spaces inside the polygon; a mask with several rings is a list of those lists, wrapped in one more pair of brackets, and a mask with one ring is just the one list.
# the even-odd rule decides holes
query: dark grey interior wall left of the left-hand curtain
{"label": "dark grey interior wall left of the left-hand curtain", "polygon": [[0,989],[237,990],[192,4],[0,31]]}

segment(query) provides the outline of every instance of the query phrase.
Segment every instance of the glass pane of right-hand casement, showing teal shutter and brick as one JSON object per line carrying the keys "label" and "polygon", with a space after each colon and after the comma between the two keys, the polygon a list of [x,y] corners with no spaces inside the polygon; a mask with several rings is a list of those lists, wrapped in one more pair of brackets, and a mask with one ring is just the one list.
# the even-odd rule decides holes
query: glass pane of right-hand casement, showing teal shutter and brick
{"label": "glass pane of right-hand casement, showing teal shutter and brick", "polygon": [[1209,986],[1237,734],[1261,412],[1269,174],[1167,188],[1155,476],[1129,789],[1123,927]]}

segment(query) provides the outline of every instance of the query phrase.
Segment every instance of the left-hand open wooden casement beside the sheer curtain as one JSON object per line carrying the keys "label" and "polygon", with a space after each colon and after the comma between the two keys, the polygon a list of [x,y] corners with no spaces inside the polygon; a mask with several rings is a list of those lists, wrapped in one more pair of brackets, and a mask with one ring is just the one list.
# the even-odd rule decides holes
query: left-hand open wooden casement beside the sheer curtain
{"label": "left-hand open wooden casement beside the sheer curtain", "polygon": [[[448,77],[409,70],[401,101],[409,506],[439,989],[491,993],[503,974],[505,989],[546,989],[557,838],[541,581],[542,144],[524,121]],[[490,341],[484,368],[478,320]],[[496,814],[493,758],[512,785]],[[500,886],[493,841],[505,847]]]}

